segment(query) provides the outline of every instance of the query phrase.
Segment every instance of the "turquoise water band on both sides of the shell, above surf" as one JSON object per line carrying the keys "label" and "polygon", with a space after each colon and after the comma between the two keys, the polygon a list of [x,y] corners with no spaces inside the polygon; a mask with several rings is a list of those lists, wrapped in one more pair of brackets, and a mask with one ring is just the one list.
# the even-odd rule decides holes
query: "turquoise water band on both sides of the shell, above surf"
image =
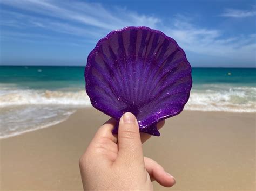
{"label": "turquoise water band on both sides of the shell, above surf", "polygon": [[[193,85],[230,84],[256,87],[255,68],[193,68]],[[82,88],[84,67],[0,66],[0,83],[30,89]]]}

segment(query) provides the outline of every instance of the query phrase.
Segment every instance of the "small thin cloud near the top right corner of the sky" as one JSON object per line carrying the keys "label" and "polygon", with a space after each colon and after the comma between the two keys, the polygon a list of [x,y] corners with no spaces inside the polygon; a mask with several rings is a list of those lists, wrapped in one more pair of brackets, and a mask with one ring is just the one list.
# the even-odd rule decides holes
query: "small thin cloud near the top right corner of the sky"
{"label": "small thin cloud near the top right corner of the sky", "polygon": [[233,17],[233,18],[245,18],[256,15],[255,10],[240,10],[240,9],[226,9],[220,16]]}

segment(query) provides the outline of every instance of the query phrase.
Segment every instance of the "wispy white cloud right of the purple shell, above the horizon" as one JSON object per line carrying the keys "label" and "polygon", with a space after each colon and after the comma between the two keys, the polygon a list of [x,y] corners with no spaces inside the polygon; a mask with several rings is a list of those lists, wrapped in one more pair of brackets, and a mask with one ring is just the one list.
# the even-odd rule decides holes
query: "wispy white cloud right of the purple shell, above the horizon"
{"label": "wispy white cloud right of the purple shell, above the horizon", "polygon": [[191,19],[186,20],[177,17],[175,27],[165,27],[164,31],[188,51],[234,59],[251,58],[256,51],[255,34],[224,38],[223,31],[198,27]]}

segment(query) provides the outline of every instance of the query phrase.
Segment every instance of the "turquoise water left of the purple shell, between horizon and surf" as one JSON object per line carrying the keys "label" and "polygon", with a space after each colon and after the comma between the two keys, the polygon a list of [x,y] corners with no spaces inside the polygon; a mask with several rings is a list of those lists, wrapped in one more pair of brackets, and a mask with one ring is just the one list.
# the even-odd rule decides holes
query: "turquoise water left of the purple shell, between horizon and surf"
{"label": "turquoise water left of the purple shell, between horizon and surf", "polygon": [[85,86],[84,67],[0,66],[0,83],[28,89],[77,90]]}

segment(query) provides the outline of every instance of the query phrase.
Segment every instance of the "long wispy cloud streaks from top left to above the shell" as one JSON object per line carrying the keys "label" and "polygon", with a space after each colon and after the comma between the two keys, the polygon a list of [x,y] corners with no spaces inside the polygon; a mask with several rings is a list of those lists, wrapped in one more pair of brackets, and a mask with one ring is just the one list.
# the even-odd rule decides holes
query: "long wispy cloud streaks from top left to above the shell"
{"label": "long wispy cloud streaks from top left to above the shell", "polygon": [[145,25],[155,28],[160,22],[156,17],[139,15],[126,9],[113,8],[114,11],[109,11],[98,3],[45,0],[2,0],[0,3],[37,14],[31,16],[31,14],[2,11],[3,15],[10,15],[11,18],[11,20],[5,19],[2,25],[37,26],[60,33],[96,39],[105,36],[111,30],[125,26]]}

